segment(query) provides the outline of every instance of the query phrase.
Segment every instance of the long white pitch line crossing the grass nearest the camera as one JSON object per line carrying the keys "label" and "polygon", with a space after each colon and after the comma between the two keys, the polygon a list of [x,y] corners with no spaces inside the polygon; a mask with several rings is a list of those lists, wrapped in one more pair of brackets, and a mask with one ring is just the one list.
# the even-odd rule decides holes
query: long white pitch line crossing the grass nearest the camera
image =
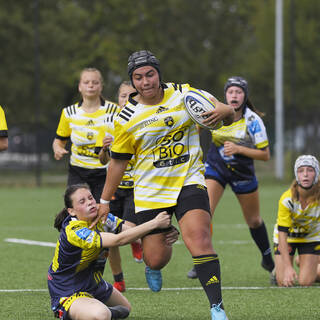
{"label": "long white pitch line crossing the grass nearest the camera", "polygon": [[[320,286],[313,286],[310,288],[320,289]],[[306,287],[222,287],[222,290],[269,290],[269,289],[306,289]],[[128,291],[150,291],[149,288],[126,288]],[[161,291],[186,291],[186,290],[203,290],[202,287],[190,287],[190,288],[162,288]],[[47,289],[0,289],[1,292],[47,292]]]}

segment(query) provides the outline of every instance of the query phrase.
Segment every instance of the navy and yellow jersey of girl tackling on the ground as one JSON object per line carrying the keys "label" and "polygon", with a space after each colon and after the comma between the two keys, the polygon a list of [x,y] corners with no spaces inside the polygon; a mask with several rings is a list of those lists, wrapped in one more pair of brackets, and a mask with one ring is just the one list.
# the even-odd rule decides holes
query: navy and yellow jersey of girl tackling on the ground
{"label": "navy and yellow jersey of girl tackling on the ground", "polygon": [[89,223],[68,216],[57,242],[52,264],[49,267],[50,294],[67,297],[75,292],[90,291],[98,285],[101,276],[95,274],[94,262],[102,248],[100,232],[118,233],[123,220],[108,214],[105,224],[92,230]]}

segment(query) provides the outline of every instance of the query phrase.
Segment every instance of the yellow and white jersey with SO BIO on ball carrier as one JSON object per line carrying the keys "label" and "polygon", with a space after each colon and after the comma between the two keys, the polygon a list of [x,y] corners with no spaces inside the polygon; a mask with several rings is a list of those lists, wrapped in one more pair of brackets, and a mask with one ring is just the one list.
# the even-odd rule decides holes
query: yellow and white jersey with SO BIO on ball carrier
{"label": "yellow and white jersey with SO BIO on ball carrier", "polygon": [[157,105],[136,102],[132,94],[115,118],[111,157],[135,158],[136,212],[176,205],[181,188],[205,185],[199,134],[183,102],[189,84],[163,84]]}

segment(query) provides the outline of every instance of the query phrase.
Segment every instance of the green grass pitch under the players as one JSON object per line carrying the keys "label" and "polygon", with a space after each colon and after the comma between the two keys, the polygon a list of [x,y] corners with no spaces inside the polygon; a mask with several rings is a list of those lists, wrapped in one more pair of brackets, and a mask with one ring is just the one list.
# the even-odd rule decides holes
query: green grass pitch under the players
{"label": "green grass pitch under the players", "polygon": [[[270,239],[276,219],[278,198],[286,186],[261,185],[261,211]],[[63,187],[0,188],[0,320],[54,319],[47,292],[47,269],[53,247],[7,242],[8,238],[53,243],[55,214],[62,207]],[[320,286],[280,289],[271,287],[260,267],[260,254],[251,241],[240,207],[229,189],[214,217],[213,243],[222,271],[225,308],[230,320],[320,319]],[[163,290],[147,289],[144,266],[131,257],[129,247],[121,248],[123,269],[132,303],[130,319],[210,319],[209,305],[198,280],[189,280],[192,263],[181,242],[163,269]],[[112,282],[107,268],[105,279]]]}

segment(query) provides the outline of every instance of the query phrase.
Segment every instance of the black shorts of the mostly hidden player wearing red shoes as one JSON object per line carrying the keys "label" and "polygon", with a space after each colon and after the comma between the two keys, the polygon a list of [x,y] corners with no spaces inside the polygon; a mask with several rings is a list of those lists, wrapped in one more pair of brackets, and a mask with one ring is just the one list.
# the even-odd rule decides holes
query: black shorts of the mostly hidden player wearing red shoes
{"label": "black shorts of the mostly hidden player wearing red shoes", "polygon": [[137,224],[134,210],[133,188],[118,188],[110,201],[110,212],[127,221]]}

